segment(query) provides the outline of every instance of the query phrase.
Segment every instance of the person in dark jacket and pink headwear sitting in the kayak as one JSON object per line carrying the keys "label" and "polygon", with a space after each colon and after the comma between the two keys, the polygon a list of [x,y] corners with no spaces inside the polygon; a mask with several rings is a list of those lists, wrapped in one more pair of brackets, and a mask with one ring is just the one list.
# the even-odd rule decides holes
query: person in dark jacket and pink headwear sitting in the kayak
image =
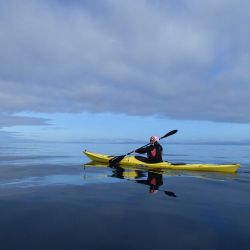
{"label": "person in dark jacket and pink headwear sitting in the kayak", "polygon": [[147,153],[147,158],[149,162],[157,163],[162,162],[162,146],[159,143],[159,138],[157,136],[150,137],[150,145],[142,148],[136,149],[134,152],[138,154]]}

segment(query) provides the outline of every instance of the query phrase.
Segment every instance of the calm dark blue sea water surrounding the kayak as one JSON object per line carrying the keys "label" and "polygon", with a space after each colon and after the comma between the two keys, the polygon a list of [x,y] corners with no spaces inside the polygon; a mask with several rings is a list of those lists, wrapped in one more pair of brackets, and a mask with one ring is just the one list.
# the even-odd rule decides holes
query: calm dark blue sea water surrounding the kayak
{"label": "calm dark blue sea water surrounding the kayak", "polygon": [[249,249],[250,146],[163,144],[168,161],[241,167],[169,171],[156,194],[146,171],[84,167],[84,149],[138,146],[0,145],[0,249]]}

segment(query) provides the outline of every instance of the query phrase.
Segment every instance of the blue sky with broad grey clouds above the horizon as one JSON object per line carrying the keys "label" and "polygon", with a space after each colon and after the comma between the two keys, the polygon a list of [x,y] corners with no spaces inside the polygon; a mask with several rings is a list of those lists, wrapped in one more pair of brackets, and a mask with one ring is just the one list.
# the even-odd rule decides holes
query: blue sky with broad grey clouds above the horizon
{"label": "blue sky with broad grey clouds above the horizon", "polygon": [[250,143],[248,0],[0,2],[0,140]]}

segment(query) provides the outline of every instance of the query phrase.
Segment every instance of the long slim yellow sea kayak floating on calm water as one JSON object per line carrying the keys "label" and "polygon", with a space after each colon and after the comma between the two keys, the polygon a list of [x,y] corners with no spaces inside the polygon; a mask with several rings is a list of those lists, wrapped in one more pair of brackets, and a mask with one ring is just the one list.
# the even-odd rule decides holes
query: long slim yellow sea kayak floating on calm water
{"label": "long slim yellow sea kayak floating on calm water", "polygon": [[[109,160],[114,156],[98,154],[89,151],[83,151],[83,153],[92,161],[109,164]],[[144,166],[148,169],[169,169],[169,170],[191,170],[191,171],[213,171],[224,173],[237,172],[240,164],[203,164],[203,163],[171,163],[171,162],[159,162],[148,163],[147,158],[142,156],[126,156],[120,162],[119,165],[126,166]]]}

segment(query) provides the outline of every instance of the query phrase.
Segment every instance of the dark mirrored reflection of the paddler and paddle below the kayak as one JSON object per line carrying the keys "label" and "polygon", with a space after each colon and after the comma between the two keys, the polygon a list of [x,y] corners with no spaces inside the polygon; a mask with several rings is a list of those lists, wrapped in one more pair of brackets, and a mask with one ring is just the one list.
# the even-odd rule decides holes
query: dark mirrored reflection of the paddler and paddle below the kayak
{"label": "dark mirrored reflection of the paddler and paddle below the kayak", "polygon": [[[130,178],[126,177],[126,172],[124,168],[121,168],[119,166],[116,166],[116,167],[112,166],[112,169],[113,171],[112,171],[111,177],[131,180]],[[134,176],[133,176],[133,178],[135,179],[134,182],[149,186],[150,194],[156,194],[158,193],[158,191],[163,191],[166,195],[170,197],[177,197],[174,192],[159,189],[159,187],[163,185],[162,174],[148,171],[146,180],[136,180],[138,178],[142,178],[145,176],[146,176],[145,171],[140,171],[140,170],[134,171]]]}

